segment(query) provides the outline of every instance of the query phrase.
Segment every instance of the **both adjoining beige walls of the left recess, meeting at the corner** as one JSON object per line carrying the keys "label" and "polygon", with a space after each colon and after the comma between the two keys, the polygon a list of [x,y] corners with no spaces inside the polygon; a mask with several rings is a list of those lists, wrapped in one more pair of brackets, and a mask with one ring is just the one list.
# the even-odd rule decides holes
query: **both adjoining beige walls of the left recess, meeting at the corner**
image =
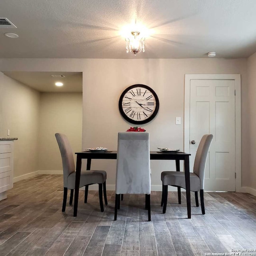
{"label": "both adjoining beige walls of the left recess, meeting at the corner", "polygon": [[73,151],[82,148],[82,92],[40,93],[0,72],[0,137],[14,142],[14,178],[38,170],[62,171],[54,134],[70,139]]}

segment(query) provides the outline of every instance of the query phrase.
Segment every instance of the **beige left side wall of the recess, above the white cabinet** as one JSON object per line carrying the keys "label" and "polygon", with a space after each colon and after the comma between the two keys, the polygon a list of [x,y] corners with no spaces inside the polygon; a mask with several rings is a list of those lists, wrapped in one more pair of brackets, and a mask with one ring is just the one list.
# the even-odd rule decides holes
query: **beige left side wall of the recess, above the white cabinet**
{"label": "beige left side wall of the recess, above the white cabinet", "polygon": [[40,94],[0,72],[0,137],[14,141],[14,178],[37,169]]}

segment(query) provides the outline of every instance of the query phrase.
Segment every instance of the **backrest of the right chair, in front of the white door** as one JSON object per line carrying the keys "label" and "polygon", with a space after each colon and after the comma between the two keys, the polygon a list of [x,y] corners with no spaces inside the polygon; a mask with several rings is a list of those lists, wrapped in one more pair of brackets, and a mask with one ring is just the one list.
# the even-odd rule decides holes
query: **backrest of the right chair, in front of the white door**
{"label": "backrest of the right chair, in front of the white door", "polygon": [[200,189],[204,189],[205,166],[212,138],[212,134],[204,134],[196,151],[193,172],[200,178]]}

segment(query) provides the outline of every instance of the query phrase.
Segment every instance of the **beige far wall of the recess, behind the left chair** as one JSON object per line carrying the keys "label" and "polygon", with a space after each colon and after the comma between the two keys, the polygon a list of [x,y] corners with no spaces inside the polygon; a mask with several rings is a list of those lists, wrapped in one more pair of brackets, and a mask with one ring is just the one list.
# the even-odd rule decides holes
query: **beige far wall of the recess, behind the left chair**
{"label": "beige far wall of the recess, behind the left chair", "polygon": [[82,148],[82,92],[41,93],[38,170],[62,170],[54,134],[68,136],[74,152]]}

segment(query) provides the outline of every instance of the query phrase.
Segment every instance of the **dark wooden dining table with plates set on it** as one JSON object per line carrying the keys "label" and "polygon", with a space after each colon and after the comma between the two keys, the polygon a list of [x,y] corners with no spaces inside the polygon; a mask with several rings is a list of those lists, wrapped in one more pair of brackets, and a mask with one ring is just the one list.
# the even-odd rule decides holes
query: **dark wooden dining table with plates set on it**
{"label": "dark wooden dining table with plates set on it", "polygon": [[[77,216],[79,184],[82,167],[82,159],[87,159],[86,170],[90,170],[92,159],[116,159],[117,151],[91,152],[82,151],[76,152],[76,182],[75,182],[75,196],[74,196],[74,217]],[[184,161],[184,172],[186,182],[186,201],[188,218],[191,218],[191,204],[190,204],[190,170],[189,170],[189,153],[184,152],[162,152],[150,151],[150,160],[175,160],[176,171],[180,171],[180,160]]]}

